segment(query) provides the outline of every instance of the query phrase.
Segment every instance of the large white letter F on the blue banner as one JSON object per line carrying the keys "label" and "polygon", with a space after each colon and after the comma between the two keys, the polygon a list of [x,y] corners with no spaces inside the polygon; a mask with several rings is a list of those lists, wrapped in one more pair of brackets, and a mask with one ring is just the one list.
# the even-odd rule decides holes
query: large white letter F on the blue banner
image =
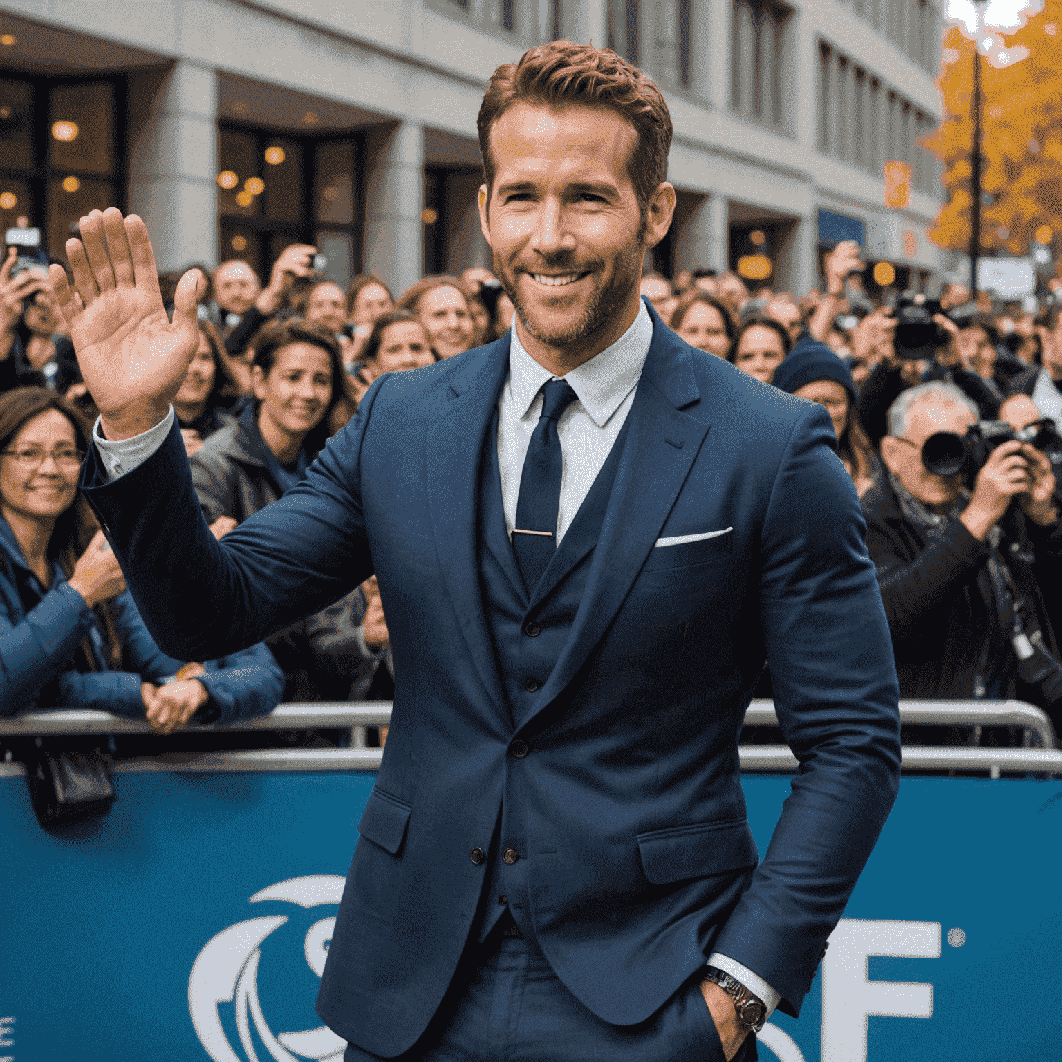
{"label": "large white letter F on the blue banner", "polygon": [[872,981],[872,955],[939,959],[939,922],[842,919],[822,961],[822,1062],[867,1062],[867,1025],[884,1017],[932,1017],[932,986]]}

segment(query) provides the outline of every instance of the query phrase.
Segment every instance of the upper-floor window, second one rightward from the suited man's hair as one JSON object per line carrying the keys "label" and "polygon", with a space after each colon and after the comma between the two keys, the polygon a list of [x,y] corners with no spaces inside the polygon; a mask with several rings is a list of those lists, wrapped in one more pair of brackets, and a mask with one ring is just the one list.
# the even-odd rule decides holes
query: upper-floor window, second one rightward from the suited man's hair
{"label": "upper-floor window, second one rightward from the suited man's hair", "polygon": [[775,0],[735,0],[732,106],[774,129],[784,123],[785,31],[792,8]]}

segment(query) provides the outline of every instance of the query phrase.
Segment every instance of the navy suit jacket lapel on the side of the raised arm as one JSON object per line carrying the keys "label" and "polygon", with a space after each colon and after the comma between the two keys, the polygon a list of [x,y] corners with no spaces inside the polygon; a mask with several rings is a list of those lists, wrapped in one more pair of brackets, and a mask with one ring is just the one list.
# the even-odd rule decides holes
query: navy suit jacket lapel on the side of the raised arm
{"label": "navy suit jacket lapel on the side of the raised arm", "polygon": [[432,411],[427,431],[428,503],[443,577],[480,681],[507,720],[479,589],[476,521],[483,440],[508,371],[507,333],[455,373],[450,389],[457,397]]}

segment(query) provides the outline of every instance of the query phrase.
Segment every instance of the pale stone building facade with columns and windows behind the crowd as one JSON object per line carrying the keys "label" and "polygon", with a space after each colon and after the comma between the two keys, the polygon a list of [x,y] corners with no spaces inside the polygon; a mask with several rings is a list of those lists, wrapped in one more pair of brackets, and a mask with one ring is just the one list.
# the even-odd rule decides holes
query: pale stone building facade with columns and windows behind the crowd
{"label": "pale stone building facade with columns and windows behind the crowd", "polygon": [[662,272],[741,263],[804,291],[854,237],[922,287],[940,269],[940,172],[918,142],[940,116],[940,0],[0,0],[0,224],[39,226],[58,257],[115,205],[144,218],[162,270],[263,274],[302,241],[339,282],[367,270],[396,292],[489,264],[483,86],[565,37],[667,97]]}

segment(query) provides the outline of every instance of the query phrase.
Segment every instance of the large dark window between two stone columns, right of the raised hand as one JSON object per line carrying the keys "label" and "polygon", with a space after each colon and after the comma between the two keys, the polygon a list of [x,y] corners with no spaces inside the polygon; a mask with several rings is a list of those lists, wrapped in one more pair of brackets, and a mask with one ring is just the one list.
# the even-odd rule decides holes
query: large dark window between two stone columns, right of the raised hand
{"label": "large dark window between two stone columns, right of the raised hand", "polygon": [[364,140],[302,137],[224,123],[220,130],[220,259],[261,277],[292,243],[324,255],[322,273],[346,287],[361,270]]}

